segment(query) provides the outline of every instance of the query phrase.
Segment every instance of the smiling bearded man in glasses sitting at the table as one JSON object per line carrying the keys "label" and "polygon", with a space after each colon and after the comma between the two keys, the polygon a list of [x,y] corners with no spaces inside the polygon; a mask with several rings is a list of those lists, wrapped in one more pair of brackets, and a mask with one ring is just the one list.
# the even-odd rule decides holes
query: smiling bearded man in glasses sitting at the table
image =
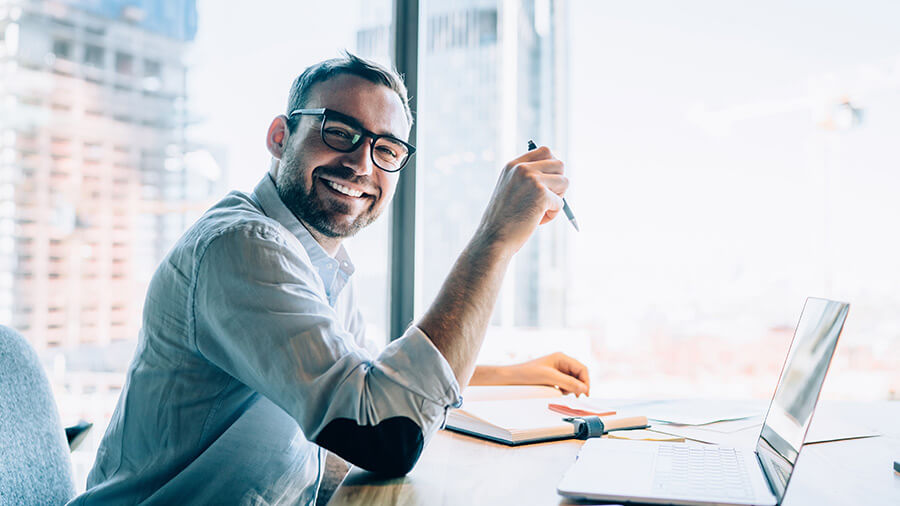
{"label": "smiling bearded man in glasses sitting at the table", "polygon": [[363,336],[341,245],[387,207],[414,148],[392,71],[352,55],[307,69],[269,126],[272,164],[178,241],[147,292],[134,360],[74,504],[310,504],[325,450],[377,473],[418,459],[460,385],[587,393],[555,354],[475,367],[512,255],[568,181],[547,148],[503,169],[434,304],[382,351]]}

